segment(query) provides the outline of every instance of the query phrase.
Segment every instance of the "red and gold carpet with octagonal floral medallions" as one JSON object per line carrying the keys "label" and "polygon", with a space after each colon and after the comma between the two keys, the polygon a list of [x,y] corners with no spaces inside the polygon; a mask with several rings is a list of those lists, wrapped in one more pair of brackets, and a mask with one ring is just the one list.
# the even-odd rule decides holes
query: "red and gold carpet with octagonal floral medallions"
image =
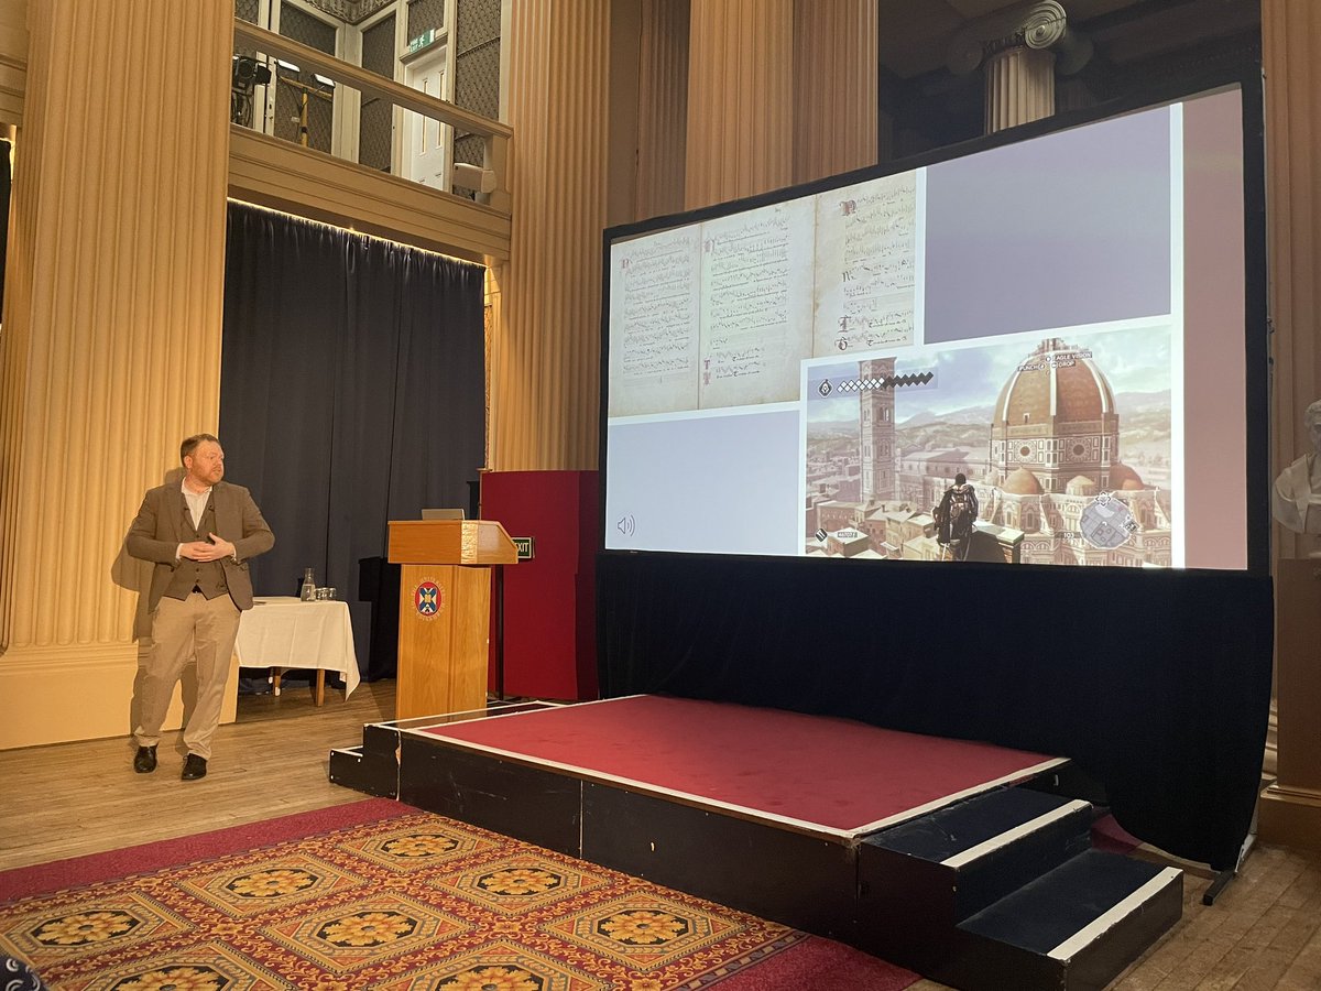
{"label": "red and gold carpet with octagonal floral medallions", "polygon": [[54,991],[889,991],[917,979],[383,799],[4,872],[0,897],[0,951]]}

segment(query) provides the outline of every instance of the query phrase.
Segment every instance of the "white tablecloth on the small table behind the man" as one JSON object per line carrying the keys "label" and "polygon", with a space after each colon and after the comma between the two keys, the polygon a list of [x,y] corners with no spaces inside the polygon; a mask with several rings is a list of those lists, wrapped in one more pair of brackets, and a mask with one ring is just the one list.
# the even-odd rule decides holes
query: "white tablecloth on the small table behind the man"
{"label": "white tablecloth on the small table behind the man", "polygon": [[243,667],[324,667],[343,677],[347,699],[358,687],[358,654],[353,649],[349,604],[314,603],[296,596],[255,599],[239,620],[234,642]]}

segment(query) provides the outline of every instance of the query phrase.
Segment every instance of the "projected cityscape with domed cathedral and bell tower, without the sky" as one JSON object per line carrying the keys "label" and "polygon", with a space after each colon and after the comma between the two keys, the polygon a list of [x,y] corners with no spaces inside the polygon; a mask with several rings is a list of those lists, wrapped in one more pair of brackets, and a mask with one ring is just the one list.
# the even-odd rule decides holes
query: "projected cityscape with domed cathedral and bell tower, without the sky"
{"label": "projected cityscape with domed cathedral and bell tower, without the sky", "polygon": [[859,361],[856,448],[831,497],[810,499],[807,552],[947,559],[931,510],[963,474],[979,507],[972,560],[1169,567],[1168,399],[1116,390],[1090,346],[1061,337],[1013,362],[993,406],[964,411],[956,433],[922,433],[896,359]]}

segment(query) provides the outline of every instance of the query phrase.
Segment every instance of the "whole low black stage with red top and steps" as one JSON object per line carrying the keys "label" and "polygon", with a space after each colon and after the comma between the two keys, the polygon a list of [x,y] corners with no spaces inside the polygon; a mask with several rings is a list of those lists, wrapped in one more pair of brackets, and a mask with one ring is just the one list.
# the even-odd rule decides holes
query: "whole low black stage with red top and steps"
{"label": "whole low black stage with red top and steps", "polygon": [[668,696],[369,724],[330,780],[832,937],[963,988],[1099,988],[1182,875],[1092,850],[1067,761]]}

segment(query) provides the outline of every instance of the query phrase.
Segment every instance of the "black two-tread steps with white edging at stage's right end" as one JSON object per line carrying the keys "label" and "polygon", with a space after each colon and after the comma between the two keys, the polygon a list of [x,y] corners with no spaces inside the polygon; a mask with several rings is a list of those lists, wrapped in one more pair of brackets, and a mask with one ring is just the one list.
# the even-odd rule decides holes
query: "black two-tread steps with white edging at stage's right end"
{"label": "black two-tread steps with white edging at stage's right end", "polygon": [[1092,817],[1007,788],[868,836],[859,945],[967,991],[1103,987],[1178,920],[1182,875],[1091,850]]}

